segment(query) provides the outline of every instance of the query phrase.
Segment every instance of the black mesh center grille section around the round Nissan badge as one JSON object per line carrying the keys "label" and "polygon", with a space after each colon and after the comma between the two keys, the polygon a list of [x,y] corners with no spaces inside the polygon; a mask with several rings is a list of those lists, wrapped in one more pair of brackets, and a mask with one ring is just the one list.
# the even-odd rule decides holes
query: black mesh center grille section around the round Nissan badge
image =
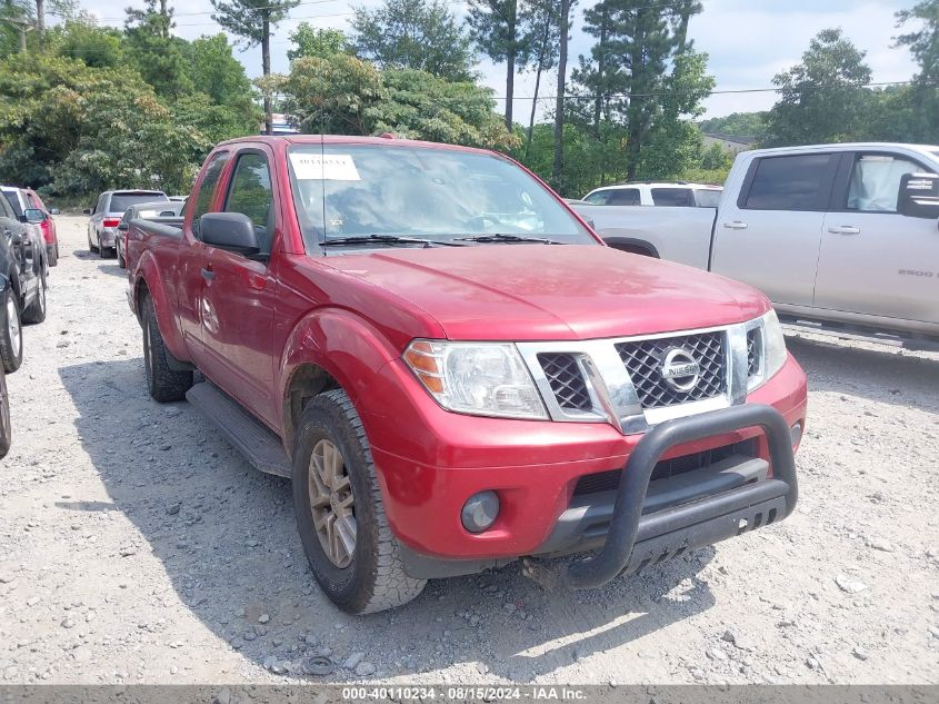
{"label": "black mesh center grille section around the round Nissan badge", "polygon": [[[639,403],[643,408],[666,408],[706,398],[713,398],[727,389],[725,334],[700,333],[620,343],[617,353],[626,365]],[[662,361],[669,350],[680,348],[700,365],[698,381],[690,390],[676,390],[662,378]]]}

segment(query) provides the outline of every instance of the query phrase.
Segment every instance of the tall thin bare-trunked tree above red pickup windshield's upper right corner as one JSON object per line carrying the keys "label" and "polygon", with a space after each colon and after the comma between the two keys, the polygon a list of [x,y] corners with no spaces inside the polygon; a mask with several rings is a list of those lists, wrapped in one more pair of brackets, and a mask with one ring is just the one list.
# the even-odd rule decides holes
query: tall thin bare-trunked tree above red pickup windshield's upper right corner
{"label": "tall thin bare-trunked tree above red pickup windshield's upper right corner", "polygon": [[[521,14],[519,10],[522,10]],[[516,65],[528,37],[522,33],[526,7],[519,0],[470,0],[467,18],[477,46],[493,61],[506,62],[506,129],[512,129]]]}

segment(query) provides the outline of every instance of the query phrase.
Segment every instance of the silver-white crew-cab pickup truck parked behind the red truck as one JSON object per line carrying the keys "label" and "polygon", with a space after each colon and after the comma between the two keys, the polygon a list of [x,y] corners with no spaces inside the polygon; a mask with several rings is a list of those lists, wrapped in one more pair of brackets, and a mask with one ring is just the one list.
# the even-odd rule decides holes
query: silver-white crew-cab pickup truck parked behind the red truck
{"label": "silver-white crew-cab pickup truck parked behind the red truck", "polygon": [[573,207],[610,246],[756,286],[780,317],[939,344],[939,147],[746,151],[716,209]]}

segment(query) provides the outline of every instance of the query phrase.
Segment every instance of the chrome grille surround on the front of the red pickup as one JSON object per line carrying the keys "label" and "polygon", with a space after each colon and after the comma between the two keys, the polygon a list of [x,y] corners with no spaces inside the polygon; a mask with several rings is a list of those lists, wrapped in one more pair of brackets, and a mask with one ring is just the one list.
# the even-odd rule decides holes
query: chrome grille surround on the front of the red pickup
{"label": "chrome grille surround on the front of the red pickup", "polygon": [[[535,384],[545,400],[545,406],[552,420],[561,423],[609,423],[620,433],[645,433],[650,427],[671,418],[728,408],[743,404],[748,390],[762,383],[762,378],[750,375],[750,335],[758,330],[760,319],[756,318],[738,325],[701,328],[693,330],[678,330],[658,335],[623,337],[615,339],[573,340],[563,343],[517,343],[516,347],[525,359]],[[662,406],[643,405],[640,389],[630,371],[627,369],[619,349],[622,346],[653,341],[658,346],[678,346],[682,339],[692,336],[709,336],[709,339],[720,340],[722,366],[719,379],[711,383],[713,394],[700,398],[687,398],[678,403]],[[762,335],[752,337],[753,350],[762,360]],[[565,365],[566,374],[580,374],[573,380],[565,377],[568,385],[586,391],[590,403],[583,403],[578,395],[579,403],[573,405],[566,400],[562,394],[556,395],[557,378],[549,378],[542,366],[542,357],[561,355],[569,361]],[[762,365],[760,364],[760,367]],[[575,368],[576,367],[576,368]],[[550,371],[550,368],[549,368]],[[582,386],[581,386],[582,384]]]}

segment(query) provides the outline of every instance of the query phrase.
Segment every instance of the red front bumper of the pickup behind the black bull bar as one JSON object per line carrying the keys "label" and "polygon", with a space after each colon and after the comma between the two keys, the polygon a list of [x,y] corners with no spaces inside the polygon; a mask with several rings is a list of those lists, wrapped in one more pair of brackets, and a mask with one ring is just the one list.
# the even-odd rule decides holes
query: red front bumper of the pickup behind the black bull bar
{"label": "red front bumper of the pickup behind the black bull bar", "polygon": [[[471,574],[520,556],[587,549],[603,542],[602,522],[592,525],[592,531],[575,529],[562,535],[563,526],[575,520],[576,512],[585,513],[588,504],[591,516],[606,512],[609,517],[613,513],[615,496],[580,496],[578,483],[588,475],[619,474],[649,433],[622,435],[609,425],[596,423],[460,416],[440,409],[426,393],[401,394],[402,387],[417,381],[394,364],[382,369],[379,377],[370,385],[370,400],[380,404],[383,413],[366,413],[362,420],[379,470],[386,512],[412,574]],[[750,405],[771,406],[783,418],[787,433],[796,424],[805,427],[806,377],[791,357],[747,400],[747,405],[715,413],[723,415]],[[701,416],[688,418],[693,422],[698,417]],[[414,422],[392,423],[392,418]],[[682,440],[667,448],[663,459],[741,443],[752,444],[746,454],[765,463],[763,479],[769,478],[769,473],[776,470],[766,469],[772,462],[769,444],[766,432],[757,426]],[[777,484],[761,483],[787,493]],[[730,488],[736,485],[723,485],[723,489]],[[490,529],[471,534],[461,525],[460,510],[467,498],[485,489],[499,494],[501,512]],[[776,498],[779,497],[767,500]],[[763,522],[770,508],[767,507]],[[778,520],[782,512],[780,506],[776,508]],[[756,514],[748,520],[752,525]],[[642,528],[637,542],[651,535],[646,531]]]}

